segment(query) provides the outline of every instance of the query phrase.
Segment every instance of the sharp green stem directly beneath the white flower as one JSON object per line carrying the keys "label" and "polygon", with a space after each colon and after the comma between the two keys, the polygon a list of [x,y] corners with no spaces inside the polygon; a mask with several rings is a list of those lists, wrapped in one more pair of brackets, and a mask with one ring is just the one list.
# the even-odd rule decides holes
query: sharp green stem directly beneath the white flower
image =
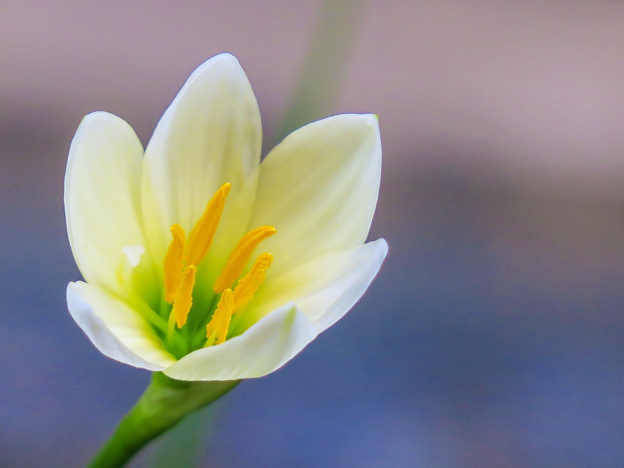
{"label": "sharp green stem directly beneath the white flower", "polygon": [[215,401],[240,381],[178,381],[161,372],[152,375],[144,394],[122,418],[89,468],[120,468],[155,437],[187,414]]}

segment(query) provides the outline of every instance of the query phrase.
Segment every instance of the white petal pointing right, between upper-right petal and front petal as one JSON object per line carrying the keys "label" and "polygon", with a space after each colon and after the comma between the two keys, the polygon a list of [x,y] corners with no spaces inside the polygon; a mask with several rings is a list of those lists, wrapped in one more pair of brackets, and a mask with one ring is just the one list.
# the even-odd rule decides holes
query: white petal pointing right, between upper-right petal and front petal
{"label": "white petal pointing right, between upper-right petal and front petal", "polygon": [[283,275],[271,276],[245,311],[245,320],[256,320],[286,303],[294,303],[319,332],[323,331],[361,298],[387,253],[388,244],[379,239],[356,249],[328,253]]}

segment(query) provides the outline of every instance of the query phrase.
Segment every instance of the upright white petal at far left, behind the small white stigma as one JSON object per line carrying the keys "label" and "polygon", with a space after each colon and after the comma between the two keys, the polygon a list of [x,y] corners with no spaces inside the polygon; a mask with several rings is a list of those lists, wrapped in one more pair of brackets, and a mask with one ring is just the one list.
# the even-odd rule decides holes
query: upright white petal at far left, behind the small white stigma
{"label": "upright white petal at far left, behind the small white stigma", "polygon": [[69,149],[65,213],[85,280],[119,290],[127,245],[144,245],[139,220],[143,147],[124,120],[87,115]]}

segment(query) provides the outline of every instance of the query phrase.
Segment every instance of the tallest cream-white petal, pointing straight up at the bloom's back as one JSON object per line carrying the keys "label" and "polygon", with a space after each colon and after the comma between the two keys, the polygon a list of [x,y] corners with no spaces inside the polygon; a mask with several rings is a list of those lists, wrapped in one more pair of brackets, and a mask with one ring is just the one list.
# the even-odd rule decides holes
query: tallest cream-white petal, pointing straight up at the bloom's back
{"label": "tallest cream-white petal, pointing straight up at the bloom's back", "polygon": [[190,232],[213,193],[230,182],[211,252],[227,257],[249,219],[260,146],[260,112],[245,72],[230,54],[213,57],[188,78],[145,150],[143,208],[157,258],[171,241],[170,226]]}

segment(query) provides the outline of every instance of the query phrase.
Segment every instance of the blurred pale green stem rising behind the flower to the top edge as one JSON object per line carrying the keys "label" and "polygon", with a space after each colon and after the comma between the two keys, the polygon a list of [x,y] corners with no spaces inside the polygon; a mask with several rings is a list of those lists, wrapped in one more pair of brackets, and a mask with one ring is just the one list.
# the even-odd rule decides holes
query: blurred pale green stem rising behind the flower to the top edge
{"label": "blurred pale green stem rising behind the flower to the top edge", "polygon": [[328,0],[319,12],[281,124],[268,139],[273,148],[286,135],[334,108],[349,57],[358,42],[368,0]]}

